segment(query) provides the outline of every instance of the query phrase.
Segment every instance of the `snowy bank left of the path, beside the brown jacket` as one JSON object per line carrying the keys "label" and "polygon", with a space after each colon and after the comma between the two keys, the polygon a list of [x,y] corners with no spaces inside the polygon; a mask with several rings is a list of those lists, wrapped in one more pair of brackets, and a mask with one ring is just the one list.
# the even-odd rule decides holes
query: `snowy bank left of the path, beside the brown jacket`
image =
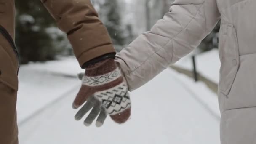
{"label": "snowy bank left of the path, beside the brown jacket", "polygon": [[47,104],[79,87],[77,72],[82,70],[74,57],[21,66],[17,100],[18,122],[23,123]]}

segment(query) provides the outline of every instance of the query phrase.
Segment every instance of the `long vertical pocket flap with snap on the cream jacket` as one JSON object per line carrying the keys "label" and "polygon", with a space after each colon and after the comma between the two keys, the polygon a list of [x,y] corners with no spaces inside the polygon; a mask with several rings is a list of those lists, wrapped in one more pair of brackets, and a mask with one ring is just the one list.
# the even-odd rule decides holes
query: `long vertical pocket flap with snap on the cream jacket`
{"label": "long vertical pocket flap with snap on the cream jacket", "polygon": [[232,24],[222,24],[219,38],[221,60],[219,90],[228,96],[240,64],[235,27]]}

